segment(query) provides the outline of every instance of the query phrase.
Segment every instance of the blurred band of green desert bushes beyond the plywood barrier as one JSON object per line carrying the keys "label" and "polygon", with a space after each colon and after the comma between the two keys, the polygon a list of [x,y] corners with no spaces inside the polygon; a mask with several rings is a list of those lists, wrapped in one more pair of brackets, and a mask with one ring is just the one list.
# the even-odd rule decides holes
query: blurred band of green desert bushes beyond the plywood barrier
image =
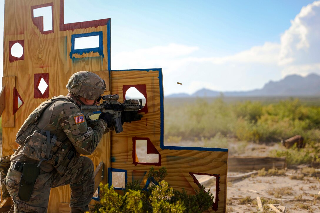
{"label": "blurred band of green desert bushes beyond the plywood barrier", "polygon": [[165,137],[194,140],[236,138],[241,141],[281,141],[297,134],[307,143],[320,140],[320,107],[305,106],[299,99],[262,105],[245,101],[226,103],[196,99],[185,105],[166,105]]}

